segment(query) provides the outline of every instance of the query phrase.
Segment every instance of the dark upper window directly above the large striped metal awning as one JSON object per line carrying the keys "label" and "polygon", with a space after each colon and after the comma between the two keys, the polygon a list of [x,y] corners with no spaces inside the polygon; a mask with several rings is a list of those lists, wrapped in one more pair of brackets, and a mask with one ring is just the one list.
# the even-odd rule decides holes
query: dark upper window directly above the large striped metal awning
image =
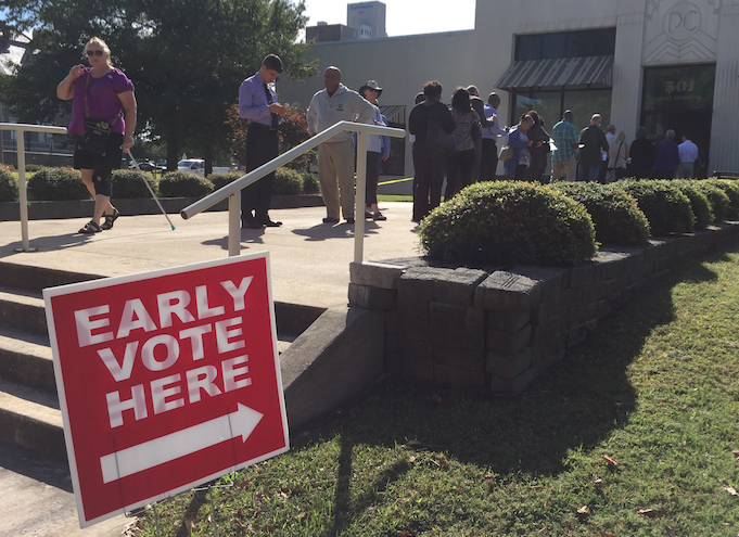
{"label": "dark upper window directly above the large striped metal awning", "polygon": [[610,56],[614,51],[615,28],[515,36],[517,61]]}

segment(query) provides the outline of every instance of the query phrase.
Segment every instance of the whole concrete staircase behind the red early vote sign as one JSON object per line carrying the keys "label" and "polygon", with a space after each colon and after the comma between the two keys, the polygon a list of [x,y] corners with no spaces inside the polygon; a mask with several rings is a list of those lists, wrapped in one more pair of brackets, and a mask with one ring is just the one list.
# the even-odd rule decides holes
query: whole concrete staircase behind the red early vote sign
{"label": "whole concrete staircase behind the red early vote sign", "polygon": [[[0,263],[0,442],[66,460],[41,291],[99,278]],[[323,311],[276,303],[278,350],[284,351]]]}

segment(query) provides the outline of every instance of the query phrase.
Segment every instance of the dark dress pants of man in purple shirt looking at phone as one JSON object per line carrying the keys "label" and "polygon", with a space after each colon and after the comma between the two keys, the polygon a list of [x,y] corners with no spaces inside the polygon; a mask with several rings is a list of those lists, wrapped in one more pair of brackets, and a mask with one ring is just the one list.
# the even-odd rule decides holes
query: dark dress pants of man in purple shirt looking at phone
{"label": "dark dress pants of man in purple shirt looking at phone", "polygon": [[[271,130],[262,124],[250,124],[246,131],[246,172],[254,171],[259,166],[267,164],[278,154],[279,138],[277,130]],[[269,220],[268,212],[273,181],[275,172],[272,171],[241,191],[242,226],[253,220],[258,223],[265,223]]]}

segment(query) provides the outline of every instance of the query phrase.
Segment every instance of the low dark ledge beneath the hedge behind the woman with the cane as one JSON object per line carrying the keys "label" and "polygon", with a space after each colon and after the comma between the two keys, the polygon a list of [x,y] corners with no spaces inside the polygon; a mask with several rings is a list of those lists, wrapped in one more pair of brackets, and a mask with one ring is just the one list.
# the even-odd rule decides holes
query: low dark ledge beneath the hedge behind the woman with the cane
{"label": "low dark ledge beneath the hedge behind the woman with the cane", "polygon": [[[196,202],[198,197],[160,197],[164,210],[178,214],[188,205]],[[152,197],[140,200],[125,200],[113,197],[113,204],[122,216],[158,215],[160,207]],[[323,205],[320,194],[273,195],[271,208],[319,207]],[[69,200],[63,202],[29,202],[29,220],[52,220],[56,218],[85,218],[92,215],[93,200]],[[228,210],[228,200],[225,200],[208,210]],[[0,203],[0,221],[16,221],[21,219],[18,202]]]}

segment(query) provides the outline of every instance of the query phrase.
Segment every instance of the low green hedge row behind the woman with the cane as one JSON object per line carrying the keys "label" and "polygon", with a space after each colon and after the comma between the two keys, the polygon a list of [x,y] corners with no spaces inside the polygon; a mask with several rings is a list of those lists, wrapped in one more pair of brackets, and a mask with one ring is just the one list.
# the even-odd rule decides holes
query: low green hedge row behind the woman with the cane
{"label": "low green hedge row behind the woman with the cane", "polygon": [[[211,174],[207,179],[186,171],[170,171],[161,179],[145,174],[150,187],[164,197],[202,197],[242,174]],[[273,182],[273,194],[314,194],[320,191],[318,179],[313,174],[300,174],[289,168],[278,168]],[[28,199],[31,201],[87,200],[90,194],[82,183],[79,170],[71,168],[39,167],[27,181]],[[113,197],[150,197],[141,172],[135,169],[113,170]],[[18,200],[17,180],[9,168],[0,167],[0,202]]]}

